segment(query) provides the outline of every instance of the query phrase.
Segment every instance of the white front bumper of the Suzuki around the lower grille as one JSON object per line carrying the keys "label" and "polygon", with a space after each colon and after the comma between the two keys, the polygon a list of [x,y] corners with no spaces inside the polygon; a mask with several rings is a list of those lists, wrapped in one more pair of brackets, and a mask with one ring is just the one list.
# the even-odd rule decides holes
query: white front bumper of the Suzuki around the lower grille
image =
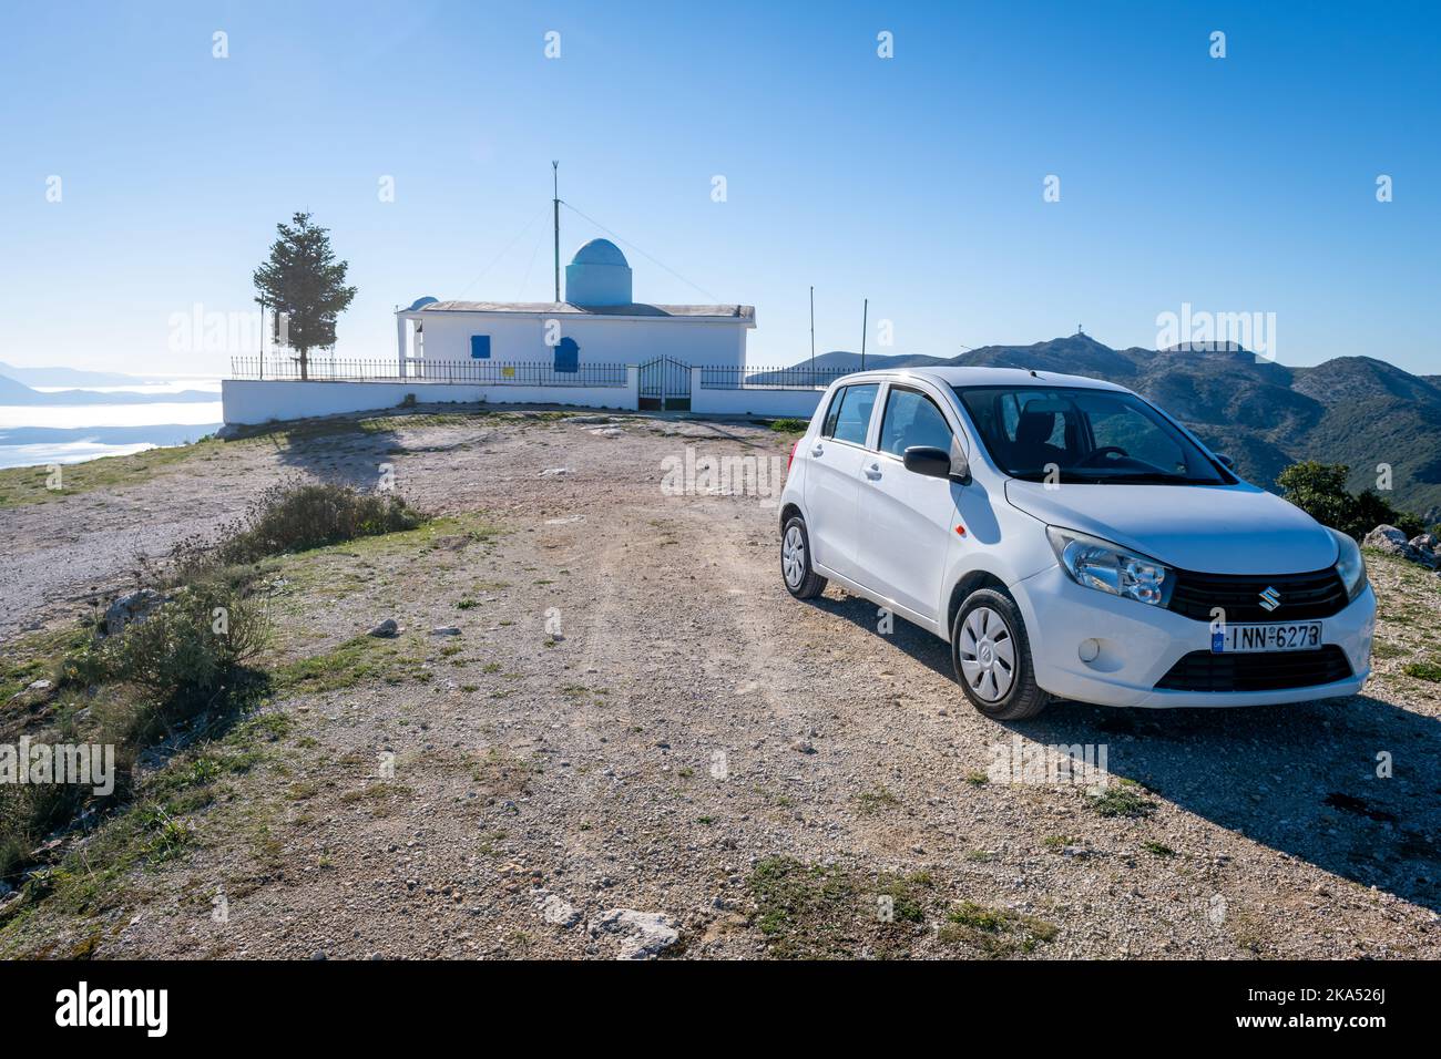
{"label": "white front bumper of the Suzuki around the lower grille", "polygon": [[[1157,689],[1183,656],[1210,650],[1209,622],[1082,588],[1059,565],[1016,582],[1012,595],[1026,620],[1036,683],[1062,699],[1099,706],[1267,706],[1356,694],[1370,676],[1376,596],[1369,585],[1343,611],[1320,620],[1321,644],[1342,648],[1352,676],[1265,692]],[[1087,640],[1101,645],[1089,663],[1079,654]]]}

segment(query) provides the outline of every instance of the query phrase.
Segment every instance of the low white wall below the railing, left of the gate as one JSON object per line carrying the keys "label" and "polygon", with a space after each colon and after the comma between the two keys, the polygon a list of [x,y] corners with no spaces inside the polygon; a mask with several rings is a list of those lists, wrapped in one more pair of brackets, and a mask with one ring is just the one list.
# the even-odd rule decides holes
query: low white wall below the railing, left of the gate
{"label": "low white wall below the railing, left of the gate", "polygon": [[378,412],[395,408],[414,393],[422,405],[578,405],[634,411],[638,376],[631,367],[627,386],[478,386],[447,382],[291,382],[278,379],[225,379],[220,402],[226,424],[258,426],[284,419],[308,419],[344,412]]}

